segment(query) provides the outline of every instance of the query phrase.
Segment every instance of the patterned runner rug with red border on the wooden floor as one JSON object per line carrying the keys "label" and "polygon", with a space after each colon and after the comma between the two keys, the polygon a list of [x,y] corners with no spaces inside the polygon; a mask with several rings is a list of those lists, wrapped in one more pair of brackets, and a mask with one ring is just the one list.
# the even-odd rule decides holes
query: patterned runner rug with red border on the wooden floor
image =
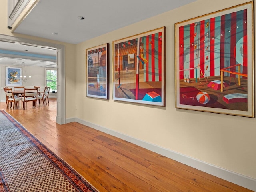
{"label": "patterned runner rug with red border on the wooden floor", "polygon": [[4,110],[0,110],[0,192],[97,192]]}

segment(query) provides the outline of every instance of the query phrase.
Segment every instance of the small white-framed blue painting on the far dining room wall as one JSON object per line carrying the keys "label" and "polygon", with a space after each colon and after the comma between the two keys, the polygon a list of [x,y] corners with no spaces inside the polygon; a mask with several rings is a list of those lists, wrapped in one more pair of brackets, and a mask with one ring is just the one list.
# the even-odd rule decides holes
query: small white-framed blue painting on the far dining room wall
{"label": "small white-framed blue painting on the far dining room wall", "polygon": [[5,68],[5,85],[6,86],[22,86],[20,79],[22,76],[22,68],[20,67],[6,67]]}

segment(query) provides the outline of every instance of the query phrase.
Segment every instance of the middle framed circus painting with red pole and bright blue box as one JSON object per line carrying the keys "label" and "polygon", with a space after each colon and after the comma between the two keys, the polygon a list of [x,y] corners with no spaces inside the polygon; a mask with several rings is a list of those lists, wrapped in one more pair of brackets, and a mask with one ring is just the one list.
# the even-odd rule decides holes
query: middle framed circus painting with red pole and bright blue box
{"label": "middle framed circus painting with red pole and bright blue box", "polygon": [[165,32],[113,42],[113,100],[165,106]]}

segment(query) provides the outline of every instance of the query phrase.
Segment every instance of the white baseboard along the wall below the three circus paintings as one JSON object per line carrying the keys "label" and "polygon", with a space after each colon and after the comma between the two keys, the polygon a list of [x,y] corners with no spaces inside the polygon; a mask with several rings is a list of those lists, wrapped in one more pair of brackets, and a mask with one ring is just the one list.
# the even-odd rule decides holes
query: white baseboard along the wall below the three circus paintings
{"label": "white baseboard along the wall below the three circus paintings", "polygon": [[209,164],[207,162],[203,162],[201,160],[186,156],[184,154],[180,154],[178,152],[169,150],[167,148],[163,148],[161,146],[157,146],[157,145],[145,142],[143,140],[122,134],[120,132],[116,132],[114,130],[110,130],[108,128],[98,126],[96,124],[86,122],[79,118],[66,119],[66,123],[70,123],[70,122],[78,122],[80,124],[83,124],[83,125],[89,126],[91,128],[94,128],[96,130],[102,131],[104,133],[110,134],[112,136],[116,136],[116,137],[126,140],[128,142],[131,142],[133,144],[136,144],[138,146],[141,146],[143,148],[146,148],[148,150],[151,150],[153,152],[156,152],[158,154],[161,154],[163,156],[166,156],[168,158],[171,158],[173,160],[176,160],[178,162],[181,162],[183,164],[186,164],[186,165],[196,168],[198,170],[201,170],[203,172],[206,172],[208,174],[214,175],[218,178],[222,178],[224,180],[227,180],[229,182],[232,182],[232,183],[242,186],[244,188],[248,188],[250,190],[256,191],[256,179],[254,179],[254,178],[250,178],[248,176],[244,176],[242,174],[238,174],[236,172],[226,170],[224,168]]}

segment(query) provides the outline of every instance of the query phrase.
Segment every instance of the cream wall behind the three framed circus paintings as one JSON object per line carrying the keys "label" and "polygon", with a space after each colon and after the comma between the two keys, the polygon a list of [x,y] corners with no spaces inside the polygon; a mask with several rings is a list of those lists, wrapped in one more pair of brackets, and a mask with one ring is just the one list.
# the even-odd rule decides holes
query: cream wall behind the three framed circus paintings
{"label": "cream wall behind the three framed circus paintings", "polygon": [[[76,46],[76,117],[256,178],[256,119],[174,108],[174,24],[248,0],[198,0]],[[166,26],[166,107],[112,100],[112,41]],[[110,43],[110,99],[86,97],[85,50]]]}

